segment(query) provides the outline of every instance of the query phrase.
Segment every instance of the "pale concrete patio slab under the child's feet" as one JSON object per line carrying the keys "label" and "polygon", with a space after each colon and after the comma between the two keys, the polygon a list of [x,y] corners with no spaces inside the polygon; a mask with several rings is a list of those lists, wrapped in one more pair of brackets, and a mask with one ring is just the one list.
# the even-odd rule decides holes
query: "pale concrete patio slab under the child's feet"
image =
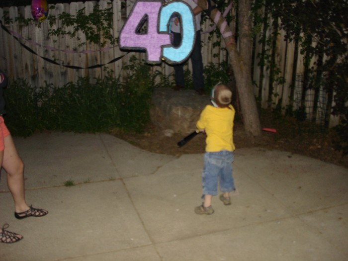
{"label": "pale concrete patio slab under the child's feet", "polygon": [[[0,181],[0,225],[24,239],[1,261],[347,261],[348,170],[288,152],[235,151],[239,194],[197,215],[203,155],[174,157],[107,134],[15,138],[26,199],[17,220]],[[189,146],[189,145],[186,145]],[[65,186],[73,181],[74,186]]]}

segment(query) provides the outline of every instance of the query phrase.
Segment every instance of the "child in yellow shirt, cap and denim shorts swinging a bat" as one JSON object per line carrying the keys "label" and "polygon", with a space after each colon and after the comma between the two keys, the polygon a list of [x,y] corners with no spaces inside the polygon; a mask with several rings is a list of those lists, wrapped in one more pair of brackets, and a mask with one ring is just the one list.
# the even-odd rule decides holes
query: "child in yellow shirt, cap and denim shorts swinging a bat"
{"label": "child in yellow shirt, cap and denim shorts swinging a bat", "polygon": [[231,101],[232,91],[222,83],[217,84],[212,90],[212,105],[203,109],[196,123],[198,131],[204,131],[207,135],[202,172],[204,202],[194,209],[196,214],[214,213],[211,201],[217,195],[218,181],[222,192],[220,200],[225,205],[231,204],[230,192],[236,189],[232,176],[235,109]]}

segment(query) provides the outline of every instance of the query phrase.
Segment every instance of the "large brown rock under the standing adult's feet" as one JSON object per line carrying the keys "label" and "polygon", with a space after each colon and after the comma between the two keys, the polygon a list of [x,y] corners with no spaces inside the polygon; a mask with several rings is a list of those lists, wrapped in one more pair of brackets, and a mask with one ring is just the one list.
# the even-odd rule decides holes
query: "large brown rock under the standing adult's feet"
{"label": "large brown rock under the standing adult's feet", "polygon": [[151,121],[163,130],[188,134],[196,129],[196,122],[209,96],[199,95],[194,90],[175,91],[157,88],[152,97]]}

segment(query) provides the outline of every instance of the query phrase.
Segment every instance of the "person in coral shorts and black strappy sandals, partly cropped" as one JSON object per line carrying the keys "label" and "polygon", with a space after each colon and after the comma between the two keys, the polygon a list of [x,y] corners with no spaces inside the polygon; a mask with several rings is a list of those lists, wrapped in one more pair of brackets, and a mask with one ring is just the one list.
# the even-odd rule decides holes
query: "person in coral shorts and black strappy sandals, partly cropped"
{"label": "person in coral shorts and black strappy sandals, partly cropped", "polygon": [[[5,101],[2,93],[7,86],[7,77],[0,70],[0,167],[7,173],[7,186],[14,201],[14,216],[17,219],[26,217],[42,217],[48,214],[47,210],[28,206],[24,195],[24,164],[18,156],[13,139],[9,133],[2,115],[5,113]],[[1,243],[15,243],[23,238],[14,232],[6,230],[8,224],[2,226],[0,232]]]}

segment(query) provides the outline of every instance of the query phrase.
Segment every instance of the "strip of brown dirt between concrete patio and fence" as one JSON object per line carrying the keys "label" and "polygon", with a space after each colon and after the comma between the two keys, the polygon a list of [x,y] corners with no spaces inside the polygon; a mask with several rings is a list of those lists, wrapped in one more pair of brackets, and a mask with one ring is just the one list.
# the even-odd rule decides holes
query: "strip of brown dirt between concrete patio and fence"
{"label": "strip of brown dirt between concrete patio and fence", "polygon": [[[274,128],[276,133],[263,131],[261,137],[252,138],[244,130],[241,120],[234,123],[234,143],[236,148],[260,147],[268,150],[287,151],[327,163],[333,163],[348,168],[348,156],[336,151],[332,144],[332,133],[323,133],[313,127],[299,125],[291,119],[274,120],[261,117],[263,128]],[[149,152],[180,156],[182,154],[204,153],[205,135],[199,134],[183,147],[177,147],[177,142],[184,135],[174,134],[166,137],[164,131],[149,124],[144,133],[111,134],[125,140],[136,147]]]}

